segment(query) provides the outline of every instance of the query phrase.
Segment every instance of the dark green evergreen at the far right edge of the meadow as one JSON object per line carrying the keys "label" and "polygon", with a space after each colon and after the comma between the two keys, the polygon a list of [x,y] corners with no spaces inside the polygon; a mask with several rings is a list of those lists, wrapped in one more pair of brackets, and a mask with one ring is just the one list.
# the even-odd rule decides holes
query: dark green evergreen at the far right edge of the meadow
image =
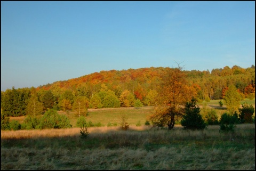
{"label": "dark green evergreen at the far right edge of the meadow", "polygon": [[244,103],[242,109],[239,110],[239,120],[240,123],[252,123],[252,115],[254,113],[254,108],[252,104]]}

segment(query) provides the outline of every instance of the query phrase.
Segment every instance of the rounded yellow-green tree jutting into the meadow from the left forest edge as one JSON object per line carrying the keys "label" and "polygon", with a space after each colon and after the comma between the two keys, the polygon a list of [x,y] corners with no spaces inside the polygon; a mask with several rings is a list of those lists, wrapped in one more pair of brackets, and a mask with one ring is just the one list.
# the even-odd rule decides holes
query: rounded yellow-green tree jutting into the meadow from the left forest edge
{"label": "rounded yellow-green tree jutting into the meadow from the left forest edge", "polygon": [[85,114],[89,108],[89,100],[86,96],[77,96],[73,103],[73,110],[76,111],[79,115]]}

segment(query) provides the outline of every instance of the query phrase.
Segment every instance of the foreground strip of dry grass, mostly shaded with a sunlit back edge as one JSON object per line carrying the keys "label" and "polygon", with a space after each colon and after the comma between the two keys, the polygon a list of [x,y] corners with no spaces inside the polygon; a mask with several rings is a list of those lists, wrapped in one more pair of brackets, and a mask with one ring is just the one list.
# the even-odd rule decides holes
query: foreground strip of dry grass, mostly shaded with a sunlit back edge
{"label": "foreground strip of dry grass, mostly shaded with a sunlit back edge", "polygon": [[1,131],[1,169],[255,169],[255,125],[220,134],[149,126]]}

